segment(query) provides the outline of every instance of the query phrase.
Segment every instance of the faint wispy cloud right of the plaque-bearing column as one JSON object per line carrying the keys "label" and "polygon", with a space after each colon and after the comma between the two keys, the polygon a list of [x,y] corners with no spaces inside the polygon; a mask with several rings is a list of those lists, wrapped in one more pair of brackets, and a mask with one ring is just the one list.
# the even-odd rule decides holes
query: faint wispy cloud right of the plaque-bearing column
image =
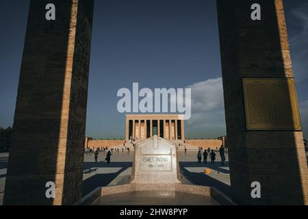
{"label": "faint wispy cloud right of the plaque-bearing column", "polygon": [[294,76],[297,81],[302,81],[308,78],[308,3],[294,9],[292,16],[296,21],[292,25],[298,27],[290,37]]}

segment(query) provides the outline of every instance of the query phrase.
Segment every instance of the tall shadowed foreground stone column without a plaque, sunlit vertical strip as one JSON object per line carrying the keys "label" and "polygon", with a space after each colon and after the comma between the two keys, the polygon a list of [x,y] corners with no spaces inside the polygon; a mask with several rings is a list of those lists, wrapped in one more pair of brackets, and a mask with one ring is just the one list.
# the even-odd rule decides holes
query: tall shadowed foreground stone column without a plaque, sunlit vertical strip
{"label": "tall shadowed foreground stone column without a plaque, sunlit vertical strip", "polygon": [[[47,21],[47,3],[56,20]],[[31,0],[4,205],[79,201],[93,1]],[[47,198],[47,182],[55,198]]]}

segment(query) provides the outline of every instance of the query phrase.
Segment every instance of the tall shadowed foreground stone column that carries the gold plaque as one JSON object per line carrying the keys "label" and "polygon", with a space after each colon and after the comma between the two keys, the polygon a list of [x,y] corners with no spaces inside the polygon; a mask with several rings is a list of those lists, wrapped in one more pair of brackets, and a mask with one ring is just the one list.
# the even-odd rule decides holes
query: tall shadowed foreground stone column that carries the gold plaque
{"label": "tall shadowed foreground stone column that carries the gold plaque", "polygon": [[[279,81],[293,77],[283,1],[257,1],[261,21],[251,19],[253,3],[217,1],[232,198],[247,205],[308,204],[303,133],[283,129],[283,125],[276,130],[264,125],[271,124],[272,118],[276,124],[290,120],[295,124],[290,109],[297,100],[292,99],[291,87],[270,87],[274,102],[269,103],[268,86],[254,83],[248,85],[254,92],[244,99],[243,78]],[[251,115],[247,121],[259,130],[250,130],[246,123],[245,104],[252,99],[255,107],[247,111]],[[273,111],[264,110],[277,103]],[[251,197],[254,181],[261,185],[261,198]]]}

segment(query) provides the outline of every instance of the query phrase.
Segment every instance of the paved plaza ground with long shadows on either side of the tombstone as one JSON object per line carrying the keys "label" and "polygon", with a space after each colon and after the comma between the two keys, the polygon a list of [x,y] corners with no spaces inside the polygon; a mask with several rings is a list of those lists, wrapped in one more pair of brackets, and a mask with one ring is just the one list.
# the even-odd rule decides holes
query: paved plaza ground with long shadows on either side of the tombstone
{"label": "paved plaza ground with long shadows on either side of the tombstone", "polygon": [[[198,164],[196,162],[197,151],[179,151],[179,165],[183,175],[196,185],[209,185],[218,188],[225,194],[230,194],[230,175],[228,157],[226,166],[220,165],[220,156],[217,152],[216,164]],[[306,153],[308,159],[308,153]],[[105,153],[99,154],[97,164],[94,162],[93,154],[85,154],[84,156],[84,183],[83,196],[91,192],[97,187],[107,185],[121,185],[127,183],[131,176],[131,164],[133,161],[133,153],[122,152],[112,153],[110,164],[105,162]],[[8,153],[0,153],[0,205],[2,205],[6,167],[8,165]],[[210,168],[212,172],[205,175],[205,168]],[[218,172],[219,170],[219,172]],[[137,194],[131,194],[137,195]],[[178,194],[181,197],[181,194]],[[179,198],[181,200],[181,198]]]}

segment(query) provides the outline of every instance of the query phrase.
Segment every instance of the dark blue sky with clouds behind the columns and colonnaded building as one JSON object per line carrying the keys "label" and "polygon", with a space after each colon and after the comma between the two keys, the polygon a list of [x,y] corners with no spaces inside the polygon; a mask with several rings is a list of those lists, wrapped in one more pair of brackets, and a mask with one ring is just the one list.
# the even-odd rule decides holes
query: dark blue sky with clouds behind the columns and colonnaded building
{"label": "dark blue sky with clouds behind the columns and colonnaded building", "polygon": [[[308,3],[285,0],[303,131],[308,133]],[[0,8],[0,127],[13,123],[29,0]],[[95,1],[87,136],[124,138],[125,115],[116,92],[192,88],[186,138],[225,134],[216,1]]]}

